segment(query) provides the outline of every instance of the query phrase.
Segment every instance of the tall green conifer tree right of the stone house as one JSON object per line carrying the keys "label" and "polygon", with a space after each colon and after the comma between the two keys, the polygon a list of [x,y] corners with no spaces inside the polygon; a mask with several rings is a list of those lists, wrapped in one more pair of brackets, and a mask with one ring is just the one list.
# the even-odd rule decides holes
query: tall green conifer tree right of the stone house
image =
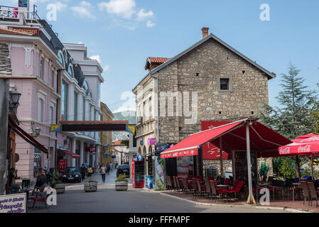
{"label": "tall green conifer tree right of the stone house", "polygon": [[[305,79],[299,76],[298,70],[292,63],[288,66],[288,74],[281,74],[281,92],[276,96],[280,107],[271,107],[264,104],[260,111],[261,121],[278,133],[292,140],[300,135],[313,132],[315,118],[311,110],[315,106],[315,91],[309,91],[303,83]],[[295,158],[297,177],[301,177],[301,160],[306,161],[308,157]],[[305,159],[305,160],[304,160]]]}

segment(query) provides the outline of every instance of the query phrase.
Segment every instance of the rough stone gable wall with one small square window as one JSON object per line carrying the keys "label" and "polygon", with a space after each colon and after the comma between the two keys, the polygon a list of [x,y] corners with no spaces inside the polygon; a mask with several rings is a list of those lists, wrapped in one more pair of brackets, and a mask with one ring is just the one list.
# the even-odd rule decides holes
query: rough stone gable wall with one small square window
{"label": "rough stone gable wall with one small square window", "polygon": [[[159,143],[183,140],[200,131],[201,121],[235,121],[256,116],[261,102],[268,104],[267,75],[212,39],[154,76],[159,78],[159,92],[198,94],[198,120],[193,124],[186,124],[185,116],[176,116],[176,101],[174,116],[168,116],[171,107],[166,102],[166,116],[159,118]],[[227,77],[232,82],[230,92],[220,91],[220,77]]]}

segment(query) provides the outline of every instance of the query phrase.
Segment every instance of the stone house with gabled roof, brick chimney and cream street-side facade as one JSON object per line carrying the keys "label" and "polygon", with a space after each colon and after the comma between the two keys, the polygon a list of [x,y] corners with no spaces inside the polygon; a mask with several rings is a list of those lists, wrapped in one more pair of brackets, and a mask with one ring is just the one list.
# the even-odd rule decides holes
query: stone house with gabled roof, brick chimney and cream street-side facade
{"label": "stone house with gabled roof, brick chimney and cream street-side facade", "polygon": [[202,28],[202,40],[172,58],[148,57],[148,74],[136,94],[138,153],[156,143],[178,143],[200,131],[201,121],[236,121],[257,116],[268,104],[265,70]]}

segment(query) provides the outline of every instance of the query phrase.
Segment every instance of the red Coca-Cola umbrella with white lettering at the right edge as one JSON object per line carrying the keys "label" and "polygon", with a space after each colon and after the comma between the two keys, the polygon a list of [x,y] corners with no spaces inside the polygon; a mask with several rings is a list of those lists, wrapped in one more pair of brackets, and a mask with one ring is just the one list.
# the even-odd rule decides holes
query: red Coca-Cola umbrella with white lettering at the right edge
{"label": "red Coca-Cola umbrella with white lettering at the right edge", "polygon": [[[313,164],[313,155],[319,155],[319,135],[301,135],[291,141],[293,143],[278,148],[279,155],[311,155],[311,164]],[[311,165],[311,176],[313,178],[313,165]]]}

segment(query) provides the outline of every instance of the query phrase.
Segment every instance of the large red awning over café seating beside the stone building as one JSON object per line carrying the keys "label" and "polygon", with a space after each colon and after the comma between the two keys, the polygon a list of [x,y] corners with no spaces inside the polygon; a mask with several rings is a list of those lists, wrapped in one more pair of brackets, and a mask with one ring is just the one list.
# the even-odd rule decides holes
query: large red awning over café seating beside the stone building
{"label": "large red awning over caf\u00e9 seating beside the stone building", "polygon": [[247,123],[249,123],[250,148],[252,151],[256,151],[259,157],[279,156],[278,148],[291,143],[291,140],[258,121],[244,119],[190,135],[185,140],[161,153],[161,158],[198,155],[198,148],[205,143],[210,142],[219,147],[220,137],[222,137],[222,150],[225,152],[232,153],[232,150],[246,150],[246,131],[244,126]]}

